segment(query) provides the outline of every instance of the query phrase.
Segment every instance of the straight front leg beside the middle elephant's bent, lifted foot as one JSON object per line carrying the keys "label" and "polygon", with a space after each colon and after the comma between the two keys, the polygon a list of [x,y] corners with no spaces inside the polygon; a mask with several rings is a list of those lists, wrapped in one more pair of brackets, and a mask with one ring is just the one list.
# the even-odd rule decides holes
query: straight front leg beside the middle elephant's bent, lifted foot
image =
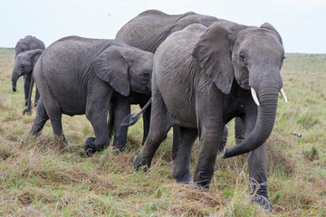
{"label": "straight front leg beside the middle elephant's bent, lifted foot", "polygon": [[120,97],[114,103],[114,140],[113,147],[122,152],[126,148],[128,127],[121,127],[123,118],[130,114],[130,101],[127,97]]}

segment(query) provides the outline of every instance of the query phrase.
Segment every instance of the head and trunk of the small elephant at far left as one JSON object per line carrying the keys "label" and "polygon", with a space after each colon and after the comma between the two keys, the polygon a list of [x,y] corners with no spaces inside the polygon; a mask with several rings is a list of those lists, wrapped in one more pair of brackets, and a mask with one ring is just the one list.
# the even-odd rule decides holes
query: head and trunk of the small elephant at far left
{"label": "head and trunk of the small elephant at far left", "polygon": [[36,49],[33,51],[21,52],[16,56],[12,73],[13,91],[16,91],[16,84],[19,77],[24,74],[32,73],[34,65],[42,52],[42,49]]}

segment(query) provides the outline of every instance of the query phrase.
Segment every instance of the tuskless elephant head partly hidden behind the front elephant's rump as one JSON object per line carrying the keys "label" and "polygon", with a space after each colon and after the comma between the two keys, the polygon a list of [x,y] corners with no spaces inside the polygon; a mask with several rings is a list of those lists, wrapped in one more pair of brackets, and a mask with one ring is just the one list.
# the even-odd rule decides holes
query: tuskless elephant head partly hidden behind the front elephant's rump
{"label": "tuskless elephant head partly hidden behind the front elephant's rump", "polygon": [[153,56],[137,48],[112,45],[94,59],[93,68],[123,96],[129,96],[130,90],[150,94]]}

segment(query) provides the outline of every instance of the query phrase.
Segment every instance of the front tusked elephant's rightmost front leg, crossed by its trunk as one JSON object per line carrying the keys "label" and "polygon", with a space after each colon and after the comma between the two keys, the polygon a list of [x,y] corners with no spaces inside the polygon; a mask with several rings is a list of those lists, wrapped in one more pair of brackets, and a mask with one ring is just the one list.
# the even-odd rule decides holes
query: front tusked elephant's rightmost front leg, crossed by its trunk
{"label": "front tusked elephant's rightmost front leg, crossed by its trunk", "polygon": [[[245,136],[254,129],[255,118],[245,118]],[[264,207],[266,211],[272,211],[272,204],[268,199],[267,175],[266,175],[266,143],[247,154],[250,193],[254,194],[254,203]]]}

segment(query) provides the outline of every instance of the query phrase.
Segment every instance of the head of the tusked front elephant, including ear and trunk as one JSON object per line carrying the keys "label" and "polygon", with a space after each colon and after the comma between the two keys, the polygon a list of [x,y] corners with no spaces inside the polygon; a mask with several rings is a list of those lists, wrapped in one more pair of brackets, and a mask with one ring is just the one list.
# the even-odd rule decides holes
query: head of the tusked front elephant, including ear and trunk
{"label": "head of the tusked front elephant, including ear and trunk", "polygon": [[258,106],[253,132],[238,146],[225,149],[223,157],[262,146],[273,130],[278,92],[283,92],[284,50],[279,33],[271,24],[254,27],[219,20],[207,28],[192,55],[219,90],[229,94],[235,79],[242,89],[252,90]]}

